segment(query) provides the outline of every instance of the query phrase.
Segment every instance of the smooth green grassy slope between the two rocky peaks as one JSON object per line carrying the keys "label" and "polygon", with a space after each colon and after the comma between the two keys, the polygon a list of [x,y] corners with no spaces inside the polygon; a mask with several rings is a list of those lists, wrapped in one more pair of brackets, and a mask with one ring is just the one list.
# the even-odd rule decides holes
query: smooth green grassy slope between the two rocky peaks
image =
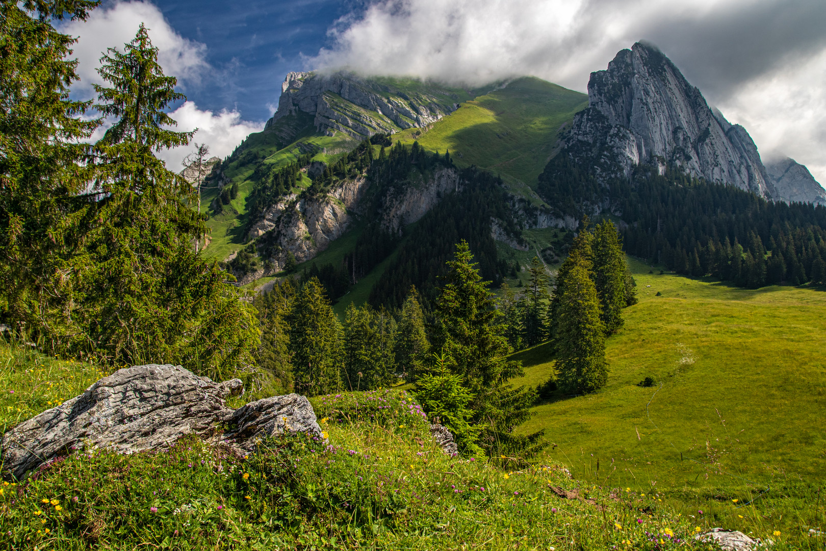
{"label": "smooth green grassy slope between the two rocky peaks", "polygon": [[587,105],[586,94],[539,78],[518,78],[463,102],[425,131],[408,129],[393,139],[418,140],[425,149],[442,153],[449,149],[459,166],[475,164],[535,188],[558,131]]}

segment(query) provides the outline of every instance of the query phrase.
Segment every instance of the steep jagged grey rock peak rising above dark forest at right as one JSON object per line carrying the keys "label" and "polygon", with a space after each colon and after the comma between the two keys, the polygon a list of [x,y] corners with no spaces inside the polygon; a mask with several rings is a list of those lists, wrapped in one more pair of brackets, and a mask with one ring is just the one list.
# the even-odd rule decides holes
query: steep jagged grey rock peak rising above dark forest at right
{"label": "steep jagged grey rock peak rising above dark forest at right", "polygon": [[588,97],[565,145],[596,155],[598,172],[627,175],[635,164],[672,163],[710,182],[781,198],[748,132],[712,112],[652,45],[634,44],[607,70],[591,73]]}

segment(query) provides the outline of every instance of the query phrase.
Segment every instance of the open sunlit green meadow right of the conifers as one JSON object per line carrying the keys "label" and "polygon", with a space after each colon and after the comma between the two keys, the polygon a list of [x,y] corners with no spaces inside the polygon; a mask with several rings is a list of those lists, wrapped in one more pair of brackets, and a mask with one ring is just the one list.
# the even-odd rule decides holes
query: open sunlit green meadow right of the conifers
{"label": "open sunlit green meadow right of the conifers", "polygon": [[[547,430],[553,445],[542,460],[589,481],[679,496],[685,514],[704,510],[747,532],[821,530],[826,292],[746,290],[631,265],[639,303],[607,341],[608,384],[554,397],[524,427]],[[528,366],[517,382],[538,384],[553,370],[547,345],[515,357]],[[638,386],[647,377],[655,385]],[[731,501],[758,495],[753,507]]]}

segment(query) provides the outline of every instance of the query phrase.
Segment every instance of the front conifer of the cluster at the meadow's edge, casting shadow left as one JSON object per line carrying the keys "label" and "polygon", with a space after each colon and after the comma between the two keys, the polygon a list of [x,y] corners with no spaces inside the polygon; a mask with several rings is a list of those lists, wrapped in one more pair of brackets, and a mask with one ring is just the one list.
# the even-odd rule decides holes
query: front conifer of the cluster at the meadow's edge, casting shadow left
{"label": "front conifer of the cluster at the meadow's edge, casting shadow left", "polygon": [[605,327],[588,264],[577,259],[563,281],[557,321],[558,385],[563,392],[595,392],[605,385]]}

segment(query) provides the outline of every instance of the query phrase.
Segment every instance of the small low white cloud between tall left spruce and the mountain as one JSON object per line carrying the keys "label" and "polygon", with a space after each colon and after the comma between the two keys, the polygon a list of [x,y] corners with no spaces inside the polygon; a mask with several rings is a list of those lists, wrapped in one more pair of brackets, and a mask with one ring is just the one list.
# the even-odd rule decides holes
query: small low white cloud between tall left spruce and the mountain
{"label": "small low white cloud between tall left spruce and the mountain", "polygon": [[[243,121],[237,111],[201,111],[193,102],[186,102],[175,111],[169,113],[178,126],[176,131],[192,131],[197,128],[192,142],[206,143],[210,148],[210,157],[223,159],[232,153],[236,145],[253,132],[263,131],[263,122]],[[184,145],[173,150],[161,151],[158,156],[166,161],[170,170],[179,172],[183,167],[181,161],[192,153],[194,146]]]}

